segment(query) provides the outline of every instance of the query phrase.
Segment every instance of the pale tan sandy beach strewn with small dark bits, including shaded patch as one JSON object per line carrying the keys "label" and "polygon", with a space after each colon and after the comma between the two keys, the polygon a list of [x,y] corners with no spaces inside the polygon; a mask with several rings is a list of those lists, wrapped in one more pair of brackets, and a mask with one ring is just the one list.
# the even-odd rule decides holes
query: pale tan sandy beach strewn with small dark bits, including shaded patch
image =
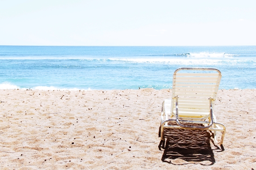
{"label": "pale tan sandy beach strewn with small dark bits, including shaded patch", "polygon": [[0,90],[0,169],[256,170],[256,90],[219,90],[223,148],[209,132],[166,131],[159,150],[162,101],[170,96],[150,88]]}

